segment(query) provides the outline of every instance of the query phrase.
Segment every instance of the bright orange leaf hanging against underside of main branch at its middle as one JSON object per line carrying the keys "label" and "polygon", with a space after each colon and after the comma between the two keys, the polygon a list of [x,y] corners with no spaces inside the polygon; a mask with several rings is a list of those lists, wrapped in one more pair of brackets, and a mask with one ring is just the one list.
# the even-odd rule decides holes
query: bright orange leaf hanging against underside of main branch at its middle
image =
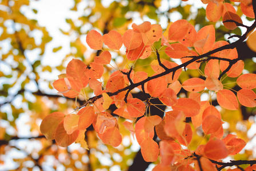
{"label": "bright orange leaf hanging against underside of main branch at its middle", "polygon": [[150,96],[157,97],[167,87],[165,76],[150,80],[147,82],[147,91]]}

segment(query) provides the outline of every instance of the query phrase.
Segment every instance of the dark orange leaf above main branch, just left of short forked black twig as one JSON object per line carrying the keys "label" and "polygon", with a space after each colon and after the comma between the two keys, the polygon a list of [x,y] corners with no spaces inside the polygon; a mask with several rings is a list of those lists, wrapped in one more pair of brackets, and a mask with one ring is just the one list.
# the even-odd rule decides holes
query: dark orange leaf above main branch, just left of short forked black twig
{"label": "dark orange leaf above main branch, just left of short forked black twig", "polygon": [[108,92],[116,92],[119,89],[125,87],[125,78],[123,78],[122,74],[110,75],[110,79],[107,81],[106,90]]}

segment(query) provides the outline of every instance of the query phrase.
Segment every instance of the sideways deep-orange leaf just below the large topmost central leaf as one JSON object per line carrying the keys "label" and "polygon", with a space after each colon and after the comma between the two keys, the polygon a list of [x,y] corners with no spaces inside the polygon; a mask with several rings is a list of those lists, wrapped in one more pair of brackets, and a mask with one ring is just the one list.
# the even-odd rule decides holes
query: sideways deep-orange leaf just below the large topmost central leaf
{"label": "sideways deep-orange leaf just below the large topmost central leaf", "polygon": [[171,44],[171,47],[173,48],[166,47],[165,49],[166,55],[168,55],[170,58],[181,59],[185,56],[190,56],[189,48],[181,43],[173,43]]}

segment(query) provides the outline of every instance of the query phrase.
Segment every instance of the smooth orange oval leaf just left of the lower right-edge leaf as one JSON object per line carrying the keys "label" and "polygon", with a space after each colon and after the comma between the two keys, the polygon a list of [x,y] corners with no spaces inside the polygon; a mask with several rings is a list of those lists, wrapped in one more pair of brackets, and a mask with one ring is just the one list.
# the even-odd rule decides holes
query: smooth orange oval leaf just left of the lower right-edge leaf
{"label": "smooth orange oval leaf just left of the lower right-edge leaf", "polygon": [[237,110],[238,101],[235,94],[229,89],[222,89],[217,92],[217,101],[219,105],[225,109]]}

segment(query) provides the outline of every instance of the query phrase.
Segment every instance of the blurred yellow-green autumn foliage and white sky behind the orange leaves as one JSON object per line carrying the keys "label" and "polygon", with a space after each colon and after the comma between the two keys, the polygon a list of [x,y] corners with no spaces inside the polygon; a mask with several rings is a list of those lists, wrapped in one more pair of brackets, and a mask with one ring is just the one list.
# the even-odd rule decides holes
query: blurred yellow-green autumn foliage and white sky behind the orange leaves
{"label": "blurred yellow-green autumn foliage and white sky behind the orange leaves", "polygon": [[[66,72],[66,65],[71,59],[81,59],[88,65],[95,55],[99,55],[99,51],[90,50],[85,43],[89,30],[95,29],[102,34],[117,30],[123,34],[131,27],[131,23],[140,24],[143,21],[161,24],[165,30],[169,22],[187,19],[196,30],[206,25],[214,25],[216,41],[227,40],[233,34],[242,34],[240,28],[227,30],[221,21],[209,22],[206,19],[205,6],[199,0],[58,1],[71,4],[69,10],[72,17],[65,16],[66,27],[59,26],[57,32],[53,32],[40,24],[37,17],[40,7],[31,5],[38,3],[40,6],[43,1],[46,0],[0,1],[0,170],[127,170],[133,164],[139,148],[134,145],[136,143],[125,128],[120,128],[125,140],[118,148],[103,145],[94,131],[87,131],[86,140],[90,150],[82,149],[79,144],[60,148],[55,141],[46,140],[39,132],[42,119],[51,112],[67,114],[83,103],[82,97],[78,99],[79,104],[76,104],[74,99],[57,94],[52,83],[58,79],[59,74]],[[230,3],[241,16],[239,3]],[[51,3],[49,10],[50,6]],[[251,20],[244,16],[242,18],[247,22]],[[53,41],[55,43],[51,43]],[[67,46],[63,46],[63,42]],[[155,46],[159,47],[159,44]],[[170,59],[164,52],[160,54],[161,58]],[[116,63],[122,63],[124,58],[125,54],[121,52],[113,55]],[[148,66],[154,59],[155,56],[152,55],[146,60],[138,60],[135,70],[152,75],[153,71]],[[245,59],[244,73],[256,73],[255,61],[255,58]],[[107,78],[113,70],[111,67],[105,69],[103,78]],[[191,76],[200,75],[189,70],[182,72],[179,81],[183,83]],[[232,82],[235,79],[223,81]],[[235,84],[228,85],[236,89]],[[86,91],[91,90],[87,88]],[[179,96],[187,94],[181,91]],[[217,105],[213,101],[214,103]],[[254,159],[255,132],[252,130],[255,129],[255,108],[241,107],[238,111],[222,109],[221,113],[225,121],[225,135],[236,133],[249,144],[246,150],[234,156],[235,160]],[[192,149],[197,147],[202,131],[197,129],[194,133],[197,136],[194,136],[191,143]]]}

